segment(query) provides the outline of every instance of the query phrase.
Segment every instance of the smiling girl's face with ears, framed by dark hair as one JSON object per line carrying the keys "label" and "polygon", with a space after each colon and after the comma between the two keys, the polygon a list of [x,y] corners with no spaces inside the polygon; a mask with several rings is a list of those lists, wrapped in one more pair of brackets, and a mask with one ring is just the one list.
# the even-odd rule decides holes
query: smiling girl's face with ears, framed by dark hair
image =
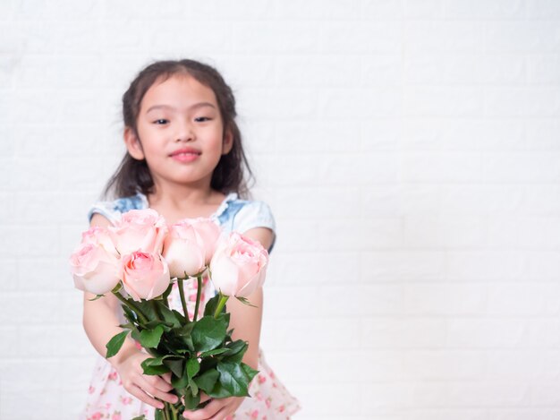
{"label": "smiling girl's face with ears, framed by dark hair", "polygon": [[156,185],[207,187],[221,156],[232,150],[214,91],[187,74],[157,80],[140,104],[136,138],[124,141],[134,159],[146,159]]}

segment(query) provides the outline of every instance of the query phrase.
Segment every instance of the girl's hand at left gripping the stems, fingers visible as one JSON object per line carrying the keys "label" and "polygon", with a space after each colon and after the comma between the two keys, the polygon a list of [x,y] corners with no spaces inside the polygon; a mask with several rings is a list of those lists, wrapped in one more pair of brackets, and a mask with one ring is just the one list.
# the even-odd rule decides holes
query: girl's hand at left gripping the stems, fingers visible
{"label": "girl's hand at left gripping the stems, fingers visible", "polygon": [[123,358],[118,364],[114,364],[123,381],[124,389],[152,407],[164,407],[164,403],[157,399],[163,399],[172,404],[176,403],[179,400],[177,396],[169,393],[170,390],[173,390],[170,374],[157,376],[143,373],[140,364],[148,357],[145,353],[136,351]]}

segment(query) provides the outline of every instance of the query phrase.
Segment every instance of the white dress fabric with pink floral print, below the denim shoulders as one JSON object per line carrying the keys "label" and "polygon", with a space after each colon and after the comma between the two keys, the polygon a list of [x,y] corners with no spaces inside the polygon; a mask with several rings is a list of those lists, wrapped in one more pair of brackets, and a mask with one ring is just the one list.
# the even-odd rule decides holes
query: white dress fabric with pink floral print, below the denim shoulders
{"label": "white dress fabric with pink floral print, below the denim shoulders", "polygon": [[[184,282],[187,299],[187,312],[192,319],[197,295],[197,281]],[[200,302],[206,304],[214,296],[214,288],[207,277],[202,279]],[[202,316],[204,304],[200,304],[199,316]],[[182,313],[181,299],[177,284],[169,295],[169,306]],[[268,366],[259,351],[259,374],[250,382],[251,398],[243,399],[242,405],[227,420],[286,420],[300,409],[299,401],[290,395],[282,382]],[[81,420],[130,420],[145,415],[154,418],[154,408],[136,399],[123,388],[118,373],[104,357],[99,356],[94,368],[88,390],[88,399]]]}

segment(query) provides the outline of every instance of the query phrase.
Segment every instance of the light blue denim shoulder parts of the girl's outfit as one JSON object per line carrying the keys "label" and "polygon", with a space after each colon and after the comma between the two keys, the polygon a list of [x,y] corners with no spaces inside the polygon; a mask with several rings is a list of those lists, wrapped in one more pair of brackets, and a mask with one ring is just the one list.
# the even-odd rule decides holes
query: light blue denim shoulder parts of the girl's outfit
{"label": "light blue denim shoulder parts of the girl's outfit", "polygon": [[[88,220],[91,221],[93,215],[99,213],[114,223],[128,210],[148,209],[148,206],[148,199],[143,193],[115,201],[97,201],[89,210]],[[268,253],[276,243],[276,222],[272,211],[264,201],[241,200],[237,197],[237,193],[229,193],[210,219],[226,233],[233,230],[244,233],[253,227],[268,227],[274,233]]]}

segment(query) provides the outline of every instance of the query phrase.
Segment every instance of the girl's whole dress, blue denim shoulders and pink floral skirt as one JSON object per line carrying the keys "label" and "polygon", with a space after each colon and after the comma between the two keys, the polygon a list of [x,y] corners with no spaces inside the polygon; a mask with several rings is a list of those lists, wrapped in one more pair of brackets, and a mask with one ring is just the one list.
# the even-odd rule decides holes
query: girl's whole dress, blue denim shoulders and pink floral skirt
{"label": "girl's whole dress, blue denim shoulders and pink floral skirt", "polygon": [[[101,213],[107,219],[116,221],[121,215],[132,209],[148,208],[145,195],[138,193],[115,201],[99,201],[89,210],[89,219],[94,213]],[[275,221],[267,204],[263,201],[239,200],[236,193],[230,193],[222,202],[211,219],[226,232],[236,230],[245,232],[252,227],[269,227],[276,230]],[[272,250],[274,242],[269,252]],[[184,282],[185,296],[188,296],[187,310],[190,317],[194,313],[197,295],[196,281]],[[215,291],[208,279],[202,281],[201,301],[206,303],[214,296]],[[169,296],[169,304],[182,312],[179,290],[174,284]],[[199,313],[204,305],[200,305]],[[259,373],[250,382],[250,398],[243,400],[231,419],[284,420],[289,419],[300,409],[299,401],[285,389],[275,373],[270,369],[262,351],[259,350]],[[88,390],[88,399],[81,420],[131,420],[136,416],[145,415],[154,418],[154,408],[133,397],[123,388],[118,373],[106,358],[98,356]]]}

